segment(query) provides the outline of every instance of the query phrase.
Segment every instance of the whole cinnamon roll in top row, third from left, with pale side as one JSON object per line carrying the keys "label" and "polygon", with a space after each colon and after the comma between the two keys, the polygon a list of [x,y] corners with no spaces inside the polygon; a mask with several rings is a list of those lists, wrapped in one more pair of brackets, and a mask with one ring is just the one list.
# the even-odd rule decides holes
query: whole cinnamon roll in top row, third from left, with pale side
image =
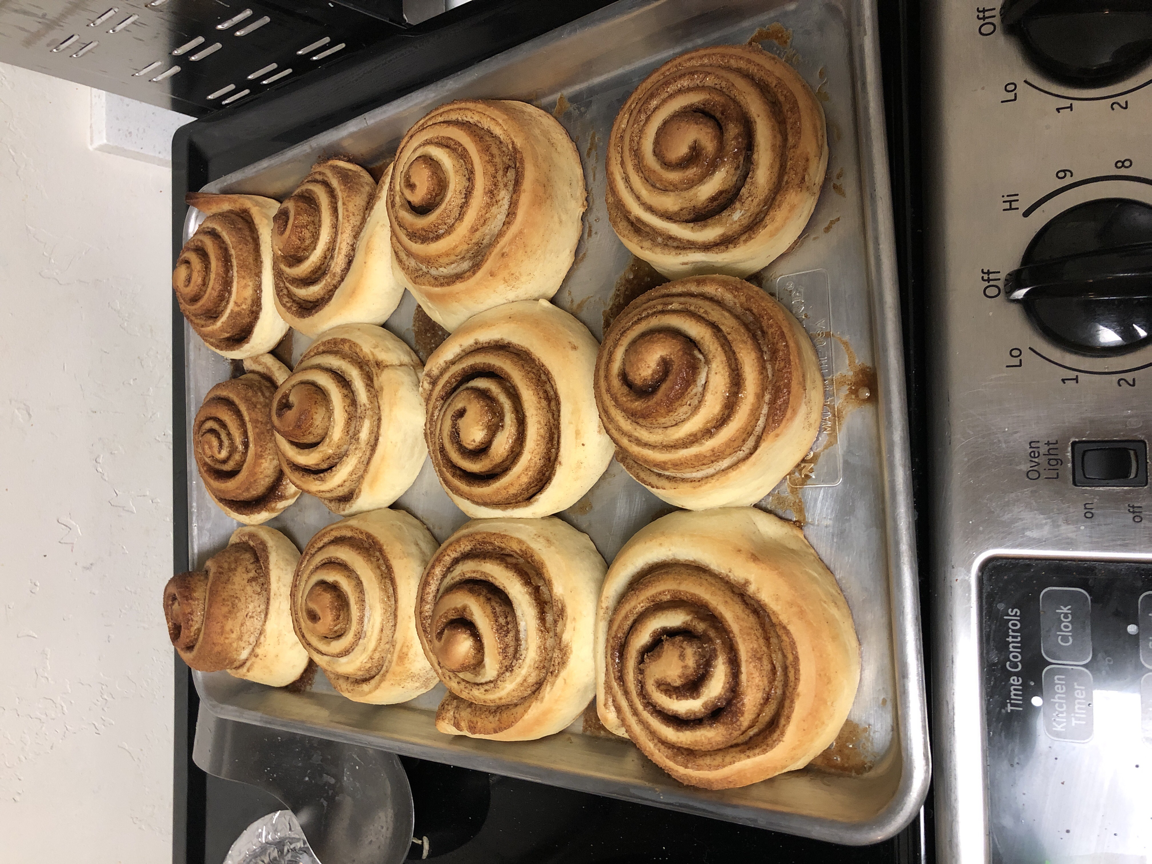
{"label": "whole cinnamon roll in top row, third from left, with pale side", "polygon": [[400,143],[388,188],[396,278],[449,331],[485,309],[551,297],[586,206],[579,153],[545,111],[442,105]]}

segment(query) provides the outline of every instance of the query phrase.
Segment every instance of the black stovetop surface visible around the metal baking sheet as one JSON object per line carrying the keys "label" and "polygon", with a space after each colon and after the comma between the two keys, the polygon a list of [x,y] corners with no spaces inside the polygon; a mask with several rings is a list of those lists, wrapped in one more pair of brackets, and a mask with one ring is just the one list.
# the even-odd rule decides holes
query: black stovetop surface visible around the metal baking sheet
{"label": "black stovetop surface visible around the metal baking sheet", "polygon": [[[418,36],[393,37],[346,56],[236,108],[225,108],[181,129],[173,142],[173,249],[181,247],[184,194],[272,156],[429,82],[468,68],[526,39],[606,6],[606,0],[472,0]],[[924,470],[923,346],[919,290],[918,69],[916,0],[879,2],[881,59],[897,257],[903,296],[914,483]],[[173,356],[183,356],[183,325],[173,302]],[[173,400],[184,400],[183,370]],[[174,429],[174,452],[185,430]],[[174,483],[187,482],[182,460]],[[174,513],[174,556],[188,569],[187,514]],[[923,513],[923,508],[919,508]],[[919,525],[923,560],[923,524]],[[927,604],[923,604],[927,608]],[[925,622],[926,623],[926,622]],[[929,634],[925,627],[925,638]],[[176,752],[173,864],[221,864],[251,821],[282,805],[267,793],[204,774],[191,760],[198,698],[176,659]],[[832,846],[642,804],[403,759],[412,787],[416,835],[429,838],[430,858],[442,864],[576,864],[623,862],[729,862],[764,859],[847,864],[932,859],[931,804],[889,841],[872,847]],[[930,795],[931,802],[931,795]],[[924,850],[927,850],[926,852]],[[423,847],[412,846],[419,859]],[[326,863],[328,864],[328,863]]]}

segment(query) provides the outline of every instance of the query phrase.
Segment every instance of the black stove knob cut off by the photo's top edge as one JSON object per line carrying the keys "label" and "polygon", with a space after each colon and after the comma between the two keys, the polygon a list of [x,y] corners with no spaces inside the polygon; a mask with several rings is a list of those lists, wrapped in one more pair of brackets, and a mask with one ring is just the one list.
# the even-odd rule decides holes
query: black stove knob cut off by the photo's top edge
{"label": "black stove knob cut off by the photo's top edge", "polygon": [[1052,78],[1105,86],[1152,59],[1150,0],[1007,0],[1000,20]]}

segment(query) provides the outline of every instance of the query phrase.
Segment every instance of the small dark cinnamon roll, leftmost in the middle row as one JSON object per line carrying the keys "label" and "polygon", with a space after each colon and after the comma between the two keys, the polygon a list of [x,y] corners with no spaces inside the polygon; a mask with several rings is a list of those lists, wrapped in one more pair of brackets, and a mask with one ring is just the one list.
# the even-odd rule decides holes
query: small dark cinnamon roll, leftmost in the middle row
{"label": "small dark cinnamon roll, leftmost in the middle row", "polygon": [[267,522],[300,498],[272,434],[272,397],[288,376],[271,354],[249,357],[244,374],[210,389],[192,420],[192,454],[204,487],[245,525]]}

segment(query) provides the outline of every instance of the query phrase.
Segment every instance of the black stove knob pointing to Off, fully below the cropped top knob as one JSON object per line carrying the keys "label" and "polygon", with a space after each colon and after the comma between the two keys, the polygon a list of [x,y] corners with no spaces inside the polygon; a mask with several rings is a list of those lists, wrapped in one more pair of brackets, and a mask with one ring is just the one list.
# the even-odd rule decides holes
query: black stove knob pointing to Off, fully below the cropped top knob
{"label": "black stove knob pointing to Off, fully below the cropped top knob", "polygon": [[1152,341],[1152,206],[1100,198],[1066,210],[1032,237],[1005,291],[1069,351],[1143,348]]}

